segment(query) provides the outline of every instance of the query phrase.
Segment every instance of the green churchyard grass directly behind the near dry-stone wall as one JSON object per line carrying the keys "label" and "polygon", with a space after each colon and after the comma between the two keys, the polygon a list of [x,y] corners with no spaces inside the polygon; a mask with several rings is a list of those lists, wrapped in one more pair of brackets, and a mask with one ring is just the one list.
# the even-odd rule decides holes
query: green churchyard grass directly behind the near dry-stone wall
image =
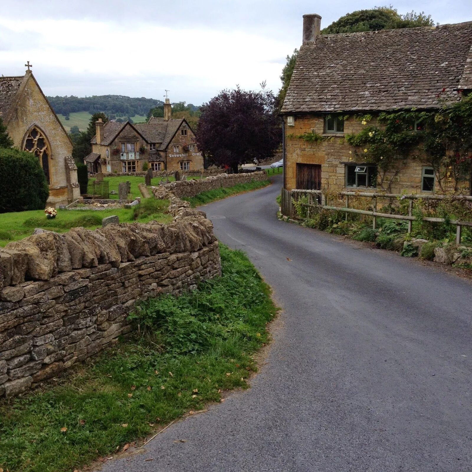
{"label": "green churchyard grass directly behind the near dry-stone wall", "polygon": [[147,223],[152,219],[167,223],[172,216],[165,211],[168,201],[150,198],[143,200],[139,209],[126,210],[115,208],[110,210],[58,210],[55,219],[46,219],[43,210],[19,211],[0,214],[0,247],[11,241],[23,239],[33,234],[34,228],[43,228],[64,233],[70,228],[83,226],[88,229],[101,227],[101,220],[107,216],[117,215],[120,223],[139,221]]}

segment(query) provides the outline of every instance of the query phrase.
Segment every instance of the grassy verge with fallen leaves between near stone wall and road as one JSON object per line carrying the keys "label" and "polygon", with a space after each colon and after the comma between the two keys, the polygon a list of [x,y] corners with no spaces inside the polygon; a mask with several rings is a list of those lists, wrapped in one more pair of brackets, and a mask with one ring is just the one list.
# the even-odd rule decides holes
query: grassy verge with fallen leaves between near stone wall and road
{"label": "grassy verge with fallen leaves between near stone wall and road", "polygon": [[222,277],[141,305],[141,337],[135,331],[43,390],[1,401],[0,468],[61,472],[103,462],[225,391],[247,388],[277,309],[246,255],[220,251]]}

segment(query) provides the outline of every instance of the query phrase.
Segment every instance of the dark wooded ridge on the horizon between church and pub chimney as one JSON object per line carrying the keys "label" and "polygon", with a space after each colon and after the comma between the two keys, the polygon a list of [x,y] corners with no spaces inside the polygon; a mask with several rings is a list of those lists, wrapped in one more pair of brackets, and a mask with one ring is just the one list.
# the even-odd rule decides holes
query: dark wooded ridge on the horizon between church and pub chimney
{"label": "dark wooded ridge on the horizon between church and pub chimney", "polygon": [[92,97],[48,97],[58,115],[86,111],[90,114],[103,111],[110,118],[146,116],[152,108],[164,102],[152,98],[132,98],[124,95],[93,95]]}

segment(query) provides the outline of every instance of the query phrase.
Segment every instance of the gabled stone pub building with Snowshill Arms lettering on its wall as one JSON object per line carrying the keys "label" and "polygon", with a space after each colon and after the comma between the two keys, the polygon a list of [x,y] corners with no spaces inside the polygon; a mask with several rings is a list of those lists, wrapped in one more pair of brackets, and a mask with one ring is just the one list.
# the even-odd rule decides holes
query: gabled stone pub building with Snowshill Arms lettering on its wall
{"label": "gabled stone pub building with Snowshill Arms lettering on its wall", "polygon": [[143,170],[201,170],[202,152],[195,144],[195,135],[185,118],[172,118],[168,98],[164,118],[152,117],[148,123],[96,123],[92,152],[84,161],[90,173],[130,173]]}

